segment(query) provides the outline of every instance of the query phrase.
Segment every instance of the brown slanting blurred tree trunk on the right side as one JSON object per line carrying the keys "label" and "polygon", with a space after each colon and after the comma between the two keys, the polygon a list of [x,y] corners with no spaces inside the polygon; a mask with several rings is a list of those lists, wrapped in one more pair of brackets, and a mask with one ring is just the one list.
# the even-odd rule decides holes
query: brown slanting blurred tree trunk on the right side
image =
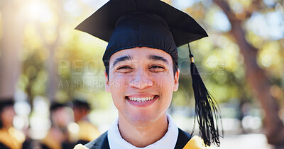
{"label": "brown slanting blurred tree trunk on the right side", "polygon": [[238,20],[234,13],[232,13],[229,5],[223,0],[213,0],[217,4],[231,23],[231,35],[233,35],[236,43],[239,44],[241,54],[244,56],[244,62],[246,64],[246,80],[248,81],[253,93],[256,95],[258,101],[261,103],[263,110],[265,111],[264,126],[266,129],[266,137],[268,143],[273,145],[284,144],[284,126],[281,121],[278,112],[279,107],[275,98],[269,92],[271,83],[265,75],[265,71],[258,67],[256,63],[256,54],[258,49],[253,47],[245,39],[245,32],[241,27],[242,21]]}

